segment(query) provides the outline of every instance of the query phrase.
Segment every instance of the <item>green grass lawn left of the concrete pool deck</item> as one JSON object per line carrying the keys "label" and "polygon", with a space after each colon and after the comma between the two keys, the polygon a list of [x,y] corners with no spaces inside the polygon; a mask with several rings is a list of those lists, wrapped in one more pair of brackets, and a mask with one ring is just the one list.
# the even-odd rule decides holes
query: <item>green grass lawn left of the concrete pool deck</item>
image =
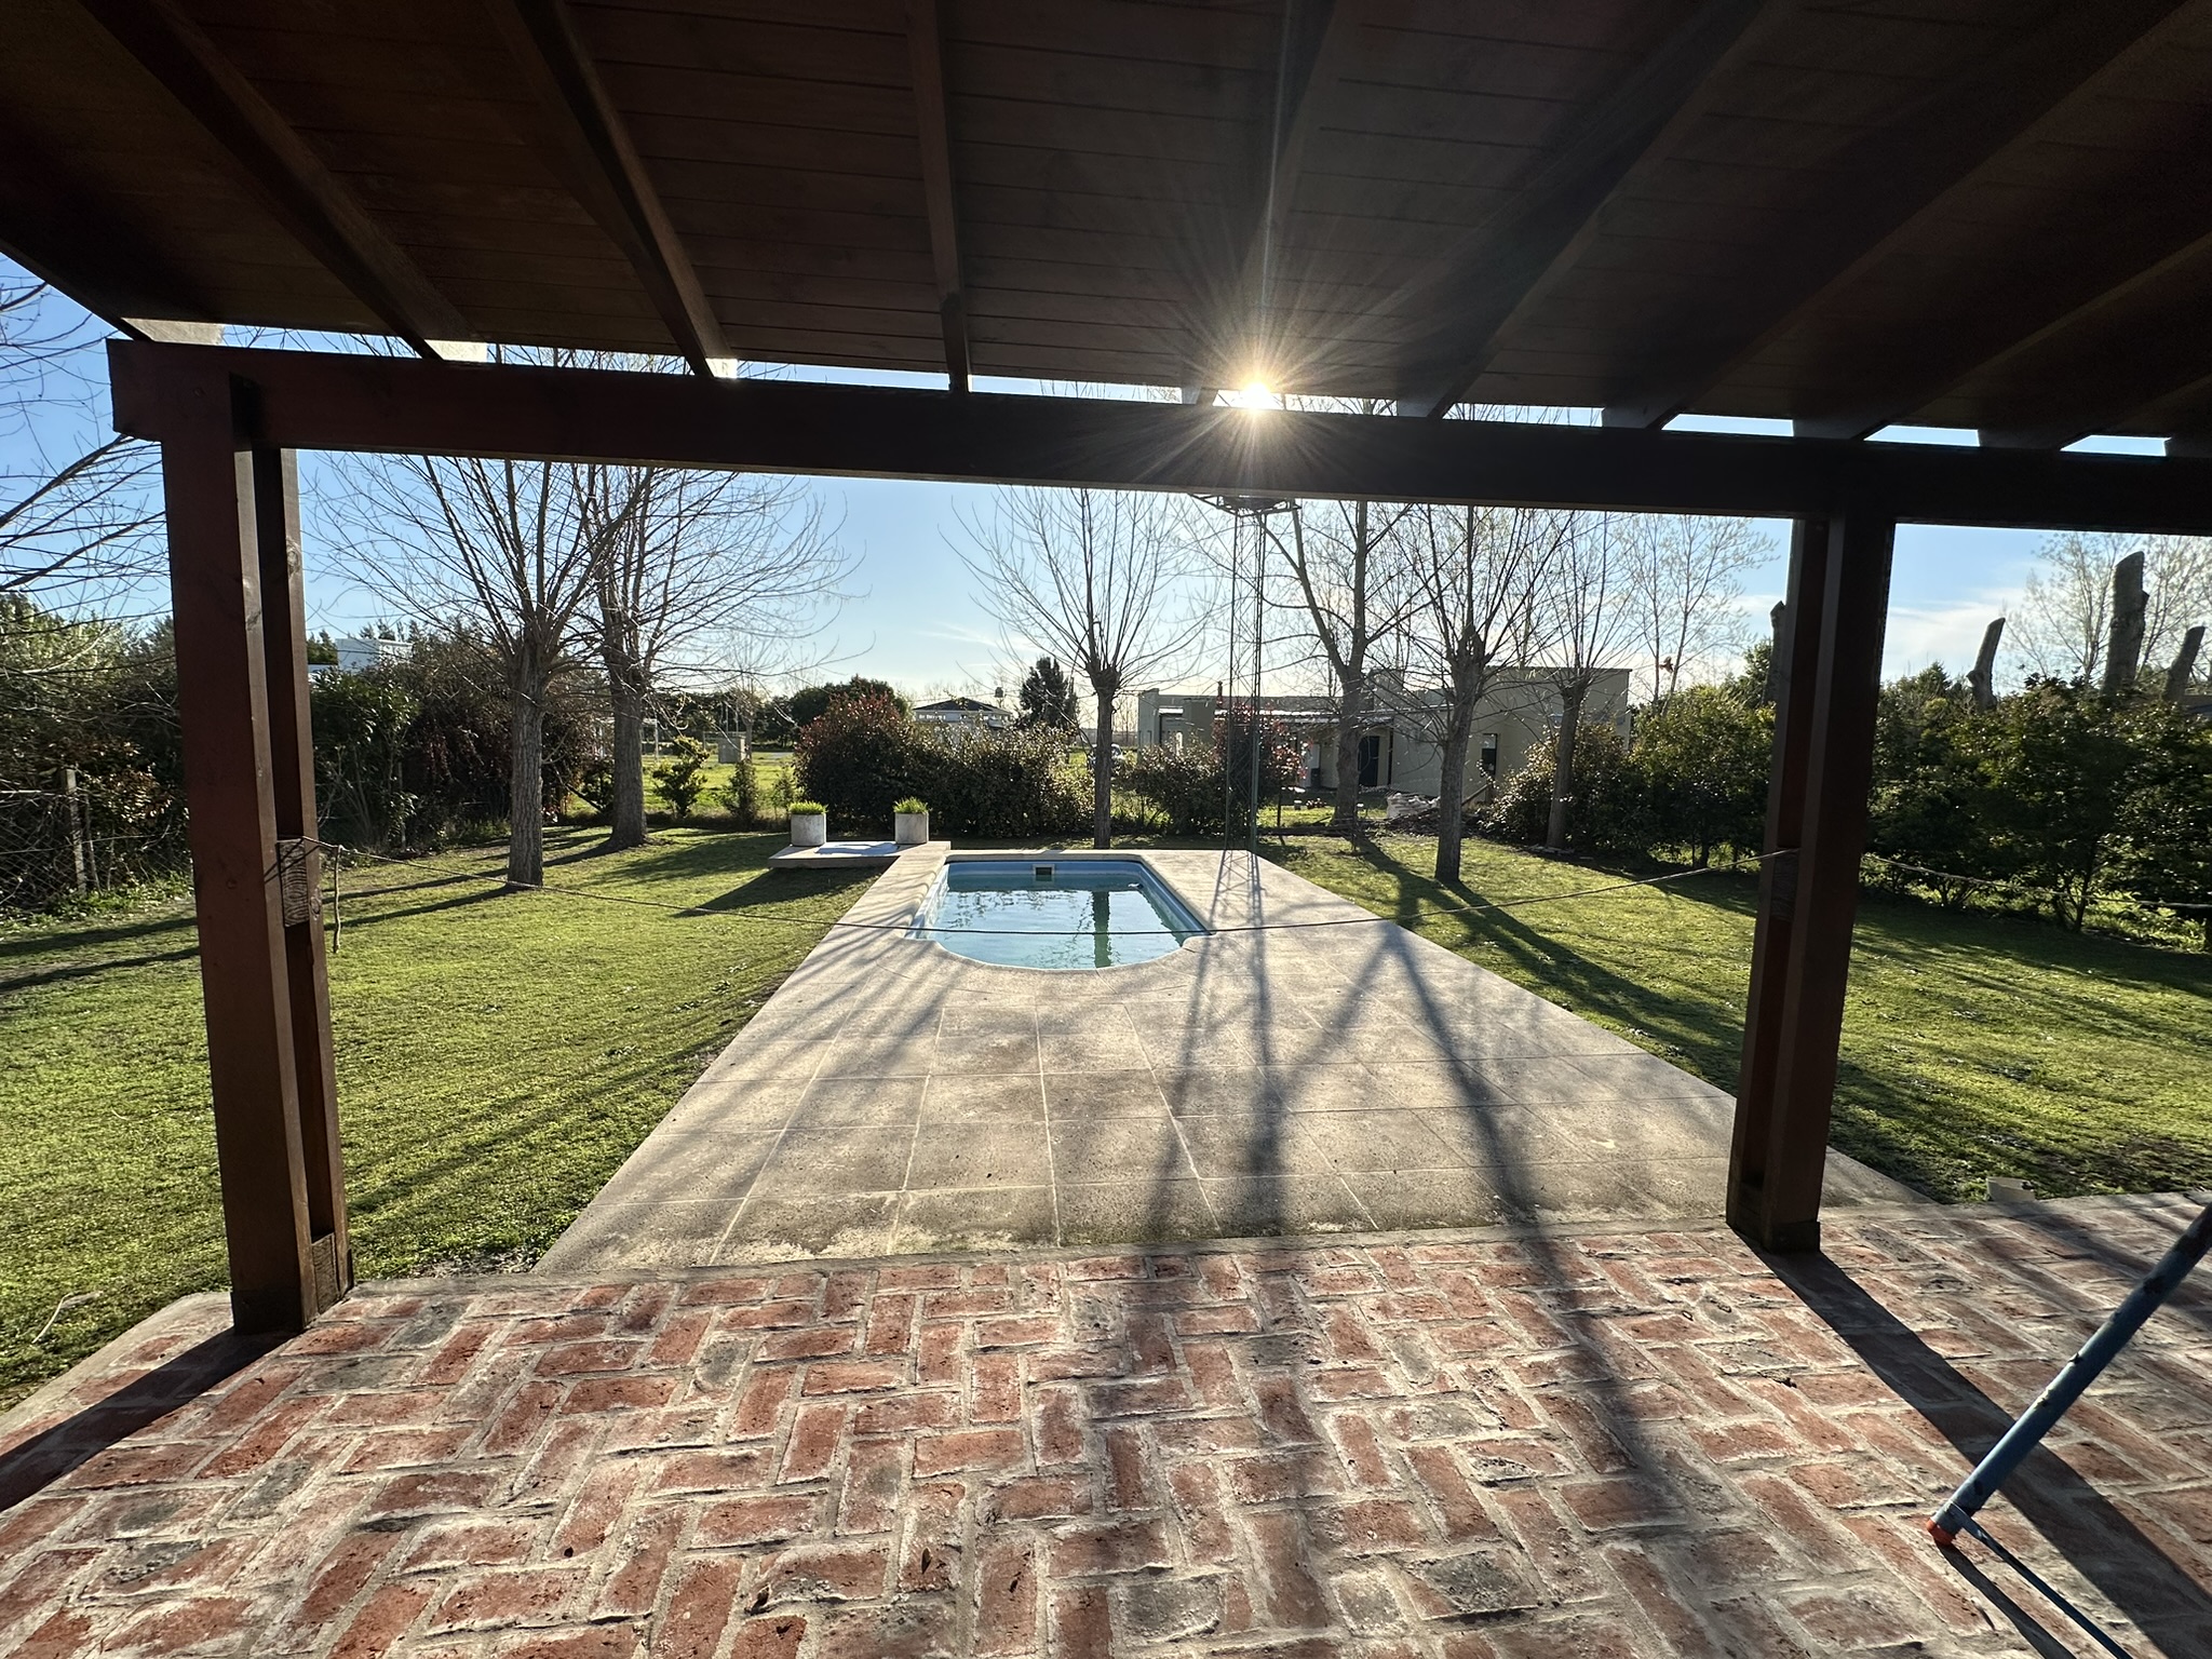
{"label": "green grass lawn left of the concrete pool deck", "polygon": [[[365,1276],[515,1265],[560,1234],[858,894],[768,876],[783,841],[661,830],[595,856],[595,832],[549,836],[549,883],[688,916],[500,896],[504,849],[347,876],[330,984]],[[223,1283],[188,907],[0,931],[0,1053],[4,1407]]]}

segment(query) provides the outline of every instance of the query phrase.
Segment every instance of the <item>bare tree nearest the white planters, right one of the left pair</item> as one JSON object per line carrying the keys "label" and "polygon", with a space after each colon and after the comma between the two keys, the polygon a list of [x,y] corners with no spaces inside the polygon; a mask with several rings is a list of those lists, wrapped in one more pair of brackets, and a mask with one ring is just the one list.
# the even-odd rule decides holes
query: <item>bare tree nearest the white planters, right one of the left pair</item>
{"label": "bare tree nearest the white planters, right one of the left pair", "polygon": [[843,597],[852,562],[830,546],[818,502],[787,480],[624,467],[584,502],[604,544],[588,622],[613,712],[606,845],[637,847],[655,686],[670,670],[701,684],[790,668],[787,644]]}

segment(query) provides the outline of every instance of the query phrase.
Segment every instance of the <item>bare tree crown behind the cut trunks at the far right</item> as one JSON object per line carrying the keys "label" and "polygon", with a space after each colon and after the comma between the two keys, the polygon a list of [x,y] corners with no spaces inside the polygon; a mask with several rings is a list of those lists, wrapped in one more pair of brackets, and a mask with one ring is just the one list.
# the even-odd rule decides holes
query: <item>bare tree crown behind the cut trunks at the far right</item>
{"label": "bare tree crown behind the cut trunks at the far right", "polygon": [[2017,661],[2046,679],[2104,679],[2112,641],[2112,568],[2143,555],[2141,661],[2170,664],[2188,630],[2212,619],[2212,542],[2192,535],[2066,531],[2035,551],[2006,622]]}

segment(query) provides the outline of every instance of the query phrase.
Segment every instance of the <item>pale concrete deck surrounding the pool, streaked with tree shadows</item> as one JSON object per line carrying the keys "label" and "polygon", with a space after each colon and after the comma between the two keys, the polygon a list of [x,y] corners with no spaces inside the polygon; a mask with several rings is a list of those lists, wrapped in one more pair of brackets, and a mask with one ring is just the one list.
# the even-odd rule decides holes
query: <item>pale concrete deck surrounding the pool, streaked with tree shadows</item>
{"label": "pale concrete deck surrounding the pool, streaked with tree shadows", "polygon": [[[542,1270],[1721,1214],[1721,1091],[1265,860],[1144,860],[1230,931],[1053,973],[907,938],[902,856]],[[1829,1155],[1827,1201],[1918,1199]]]}

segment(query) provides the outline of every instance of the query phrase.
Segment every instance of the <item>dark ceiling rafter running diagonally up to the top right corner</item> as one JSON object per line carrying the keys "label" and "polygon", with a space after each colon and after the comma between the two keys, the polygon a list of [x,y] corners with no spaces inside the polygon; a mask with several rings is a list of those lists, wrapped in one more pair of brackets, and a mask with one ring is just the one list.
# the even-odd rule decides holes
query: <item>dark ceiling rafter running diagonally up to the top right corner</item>
{"label": "dark ceiling rafter running diagonally up to the top right corner", "polygon": [[1697,310],[1652,330],[1681,341],[1641,385],[1606,407],[1606,425],[1663,427],[1843,283],[1882,259],[1955,184],[2073,97],[2185,0],[2099,0],[2046,9],[2042,22],[1969,75],[1947,77],[1893,119],[1847,144],[1838,192],[1745,281],[1717,283]]}

